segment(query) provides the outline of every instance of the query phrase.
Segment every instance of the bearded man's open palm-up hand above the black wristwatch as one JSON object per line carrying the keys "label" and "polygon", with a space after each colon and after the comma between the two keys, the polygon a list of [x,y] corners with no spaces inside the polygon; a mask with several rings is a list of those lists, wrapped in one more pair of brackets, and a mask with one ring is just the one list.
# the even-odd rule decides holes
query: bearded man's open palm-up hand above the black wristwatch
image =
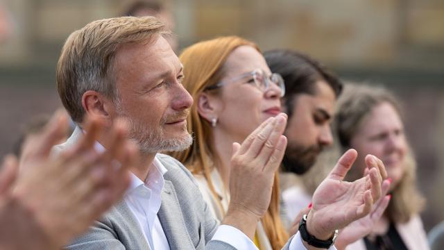
{"label": "bearded man's open palm-up hand above the black wristwatch", "polygon": [[356,158],[354,149],[345,152],[314,192],[307,231],[320,240],[327,240],[335,229],[368,215],[373,201],[381,197],[381,183],[386,174],[384,165],[375,156],[366,156],[369,169],[366,176],[352,183],[343,181]]}

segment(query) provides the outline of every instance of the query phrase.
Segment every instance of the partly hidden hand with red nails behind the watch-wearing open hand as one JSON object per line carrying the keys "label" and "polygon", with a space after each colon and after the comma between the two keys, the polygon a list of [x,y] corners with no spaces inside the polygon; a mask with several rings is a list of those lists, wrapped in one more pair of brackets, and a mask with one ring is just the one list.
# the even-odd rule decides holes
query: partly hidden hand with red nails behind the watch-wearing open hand
{"label": "partly hidden hand with red nails behind the watch-wearing open hand", "polygon": [[384,180],[382,182],[382,196],[375,203],[371,212],[366,217],[350,223],[339,231],[338,238],[334,243],[336,249],[345,249],[348,244],[352,244],[353,242],[364,238],[372,231],[373,226],[384,214],[388,202],[390,201],[390,195],[386,195],[389,188],[390,181]]}

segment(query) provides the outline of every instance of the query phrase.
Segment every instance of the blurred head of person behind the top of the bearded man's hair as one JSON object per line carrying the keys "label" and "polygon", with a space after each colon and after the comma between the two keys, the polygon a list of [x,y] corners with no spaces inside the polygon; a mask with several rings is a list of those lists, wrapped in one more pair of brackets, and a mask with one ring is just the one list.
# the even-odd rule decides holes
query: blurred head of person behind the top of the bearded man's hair
{"label": "blurred head of person behind the top of the bearded man's hair", "polygon": [[[129,0],[124,1],[122,6],[122,16],[129,17],[157,17],[162,21],[169,31],[174,32],[176,22],[171,11],[171,1],[169,0]],[[177,52],[179,47],[178,37],[171,33],[164,35],[173,51]]]}

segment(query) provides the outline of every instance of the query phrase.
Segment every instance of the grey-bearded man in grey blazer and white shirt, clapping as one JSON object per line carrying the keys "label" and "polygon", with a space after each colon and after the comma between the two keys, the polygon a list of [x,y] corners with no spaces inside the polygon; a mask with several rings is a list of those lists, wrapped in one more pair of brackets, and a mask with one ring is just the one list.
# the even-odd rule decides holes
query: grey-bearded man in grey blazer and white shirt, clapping
{"label": "grey-bearded man in grey blazer and white shirt, clapping", "polygon": [[[164,33],[154,17],[103,19],[72,33],[62,49],[58,92],[78,128],[54,150],[68,149],[88,133],[85,115],[104,126],[96,150],[110,149],[108,130],[123,117],[142,156],[123,200],[69,249],[256,249],[257,222],[268,208],[287,145],[287,115],[271,117],[242,144],[233,144],[230,206],[219,225],[187,169],[158,153],[192,143],[186,117],[193,100],[180,84],[182,64]],[[313,238],[332,242],[336,228],[367,215],[379,198],[382,178],[371,157],[368,176],[342,181],[355,158],[355,151],[345,153],[314,195],[305,231]],[[299,232],[284,247],[306,248],[314,249]]]}

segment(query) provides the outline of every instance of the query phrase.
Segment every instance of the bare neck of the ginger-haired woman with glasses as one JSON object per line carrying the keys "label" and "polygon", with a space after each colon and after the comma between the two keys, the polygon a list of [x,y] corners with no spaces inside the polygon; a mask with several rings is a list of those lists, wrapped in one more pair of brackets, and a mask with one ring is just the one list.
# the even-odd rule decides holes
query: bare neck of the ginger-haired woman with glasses
{"label": "bare neck of the ginger-haired woman with glasses", "polygon": [[228,133],[224,133],[219,129],[213,131],[214,139],[214,155],[219,158],[219,161],[214,161],[214,165],[222,178],[223,185],[228,190],[230,183],[231,170],[231,156],[233,142],[242,143],[243,140],[237,140]]}

